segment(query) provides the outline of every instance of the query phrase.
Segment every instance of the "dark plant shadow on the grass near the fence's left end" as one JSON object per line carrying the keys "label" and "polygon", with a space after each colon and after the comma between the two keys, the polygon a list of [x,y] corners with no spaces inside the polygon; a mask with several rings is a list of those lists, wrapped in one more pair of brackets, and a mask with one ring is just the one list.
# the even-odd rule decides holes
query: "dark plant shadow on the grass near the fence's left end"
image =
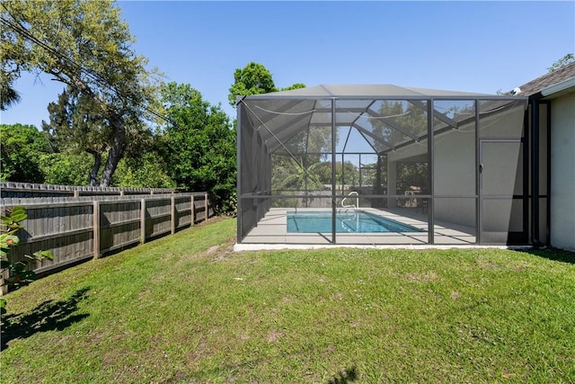
{"label": "dark plant shadow on the grass near the fence's left end", "polygon": [[78,302],[88,296],[88,290],[90,289],[77,290],[66,300],[44,301],[28,312],[3,316],[0,350],[4,351],[13,339],[30,337],[39,332],[61,331],[88,317],[87,314],[74,315],[78,309]]}

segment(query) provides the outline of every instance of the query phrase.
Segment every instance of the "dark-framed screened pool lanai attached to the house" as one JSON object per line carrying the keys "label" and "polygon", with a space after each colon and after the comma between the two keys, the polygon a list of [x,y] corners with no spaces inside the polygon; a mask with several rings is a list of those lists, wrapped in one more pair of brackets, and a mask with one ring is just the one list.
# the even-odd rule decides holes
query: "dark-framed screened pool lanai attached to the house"
{"label": "dark-framed screened pool lanai attached to the house", "polygon": [[[528,243],[525,97],[319,85],[237,106],[238,243]],[[340,233],[349,209],[420,230]],[[289,232],[304,210],[332,230]]]}

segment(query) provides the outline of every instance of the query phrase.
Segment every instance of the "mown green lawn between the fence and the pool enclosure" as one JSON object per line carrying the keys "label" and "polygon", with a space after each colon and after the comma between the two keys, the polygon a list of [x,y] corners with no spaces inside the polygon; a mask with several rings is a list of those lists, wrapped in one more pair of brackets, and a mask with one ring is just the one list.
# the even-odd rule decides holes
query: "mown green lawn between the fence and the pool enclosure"
{"label": "mown green lawn between the fence and the pool enclosure", "polygon": [[216,220],[8,294],[2,382],[575,382],[572,254],[234,254],[234,234]]}

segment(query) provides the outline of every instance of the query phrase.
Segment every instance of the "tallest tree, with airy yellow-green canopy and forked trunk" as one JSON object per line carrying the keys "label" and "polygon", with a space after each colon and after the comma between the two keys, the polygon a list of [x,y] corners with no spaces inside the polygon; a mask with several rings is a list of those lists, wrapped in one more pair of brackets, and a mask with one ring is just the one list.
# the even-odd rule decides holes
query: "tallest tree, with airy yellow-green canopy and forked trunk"
{"label": "tallest tree, with airy yellow-green canopy and forked trunk", "polygon": [[74,90],[76,103],[90,104],[94,121],[106,124],[100,185],[110,185],[125,149],[127,123],[141,121],[154,91],[154,76],[146,59],[131,49],[134,40],[119,8],[110,0],[13,0],[2,3],[2,26],[4,70],[53,76],[67,85],[68,94]]}

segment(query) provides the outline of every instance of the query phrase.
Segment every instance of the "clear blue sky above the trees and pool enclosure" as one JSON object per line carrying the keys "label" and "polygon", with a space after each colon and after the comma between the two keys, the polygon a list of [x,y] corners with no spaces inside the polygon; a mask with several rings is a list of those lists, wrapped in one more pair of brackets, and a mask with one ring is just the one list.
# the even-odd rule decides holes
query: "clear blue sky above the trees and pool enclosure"
{"label": "clear blue sky above the trees and pool enclosure", "polygon": [[[119,1],[137,55],[235,117],[234,71],[295,83],[507,92],[575,51],[575,2]],[[64,86],[23,74],[4,124],[48,121]]]}

